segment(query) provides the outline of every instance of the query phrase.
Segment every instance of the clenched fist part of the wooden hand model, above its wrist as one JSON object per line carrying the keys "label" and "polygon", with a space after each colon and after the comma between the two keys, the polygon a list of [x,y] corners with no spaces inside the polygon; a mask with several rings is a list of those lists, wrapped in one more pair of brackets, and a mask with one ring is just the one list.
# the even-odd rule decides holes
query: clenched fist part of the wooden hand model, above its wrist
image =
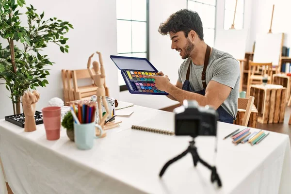
{"label": "clenched fist part of the wooden hand model, above its wrist", "polygon": [[37,91],[33,91],[32,93],[27,91],[22,96],[22,106],[23,113],[25,116],[34,116],[35,114],[35,103],[39,99],[39,93]]}

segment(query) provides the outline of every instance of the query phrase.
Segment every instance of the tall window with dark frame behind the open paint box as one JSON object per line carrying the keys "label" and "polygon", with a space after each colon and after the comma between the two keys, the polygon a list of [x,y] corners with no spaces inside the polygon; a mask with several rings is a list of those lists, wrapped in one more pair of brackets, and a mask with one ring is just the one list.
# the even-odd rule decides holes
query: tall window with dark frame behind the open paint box
{"label": "tall window with dark frame behind the open paint box", "polygon": [[[116,17],[118,55],[148,59],[148,0],[116,0]],[[127,90],[120,71],[118,83]]]}

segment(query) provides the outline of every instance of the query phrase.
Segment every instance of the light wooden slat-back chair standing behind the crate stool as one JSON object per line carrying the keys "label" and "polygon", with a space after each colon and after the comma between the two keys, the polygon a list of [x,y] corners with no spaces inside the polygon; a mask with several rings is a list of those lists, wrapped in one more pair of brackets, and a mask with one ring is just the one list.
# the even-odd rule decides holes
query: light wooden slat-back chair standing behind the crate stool
{"label": "light wooden slat-back chair standing behind the crate stool", "polygon": [[263,76],[266,74],[268,75],[268,83],[272,83],[272,63],[254,63],[252,61],[249,62],[246,97],[249,97],[250,95],[250,85],[262,84]]}

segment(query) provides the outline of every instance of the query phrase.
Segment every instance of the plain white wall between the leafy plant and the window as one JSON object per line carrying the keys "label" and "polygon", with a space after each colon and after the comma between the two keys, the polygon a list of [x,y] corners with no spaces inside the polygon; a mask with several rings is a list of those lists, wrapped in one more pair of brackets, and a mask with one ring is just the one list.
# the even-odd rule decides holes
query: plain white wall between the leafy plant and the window
{"label": "plain white wall between the leafy plant and the window", "polygon": [[[115,0],[26,0],[32,4],[39,13],[45,11],[45,18],[58,17],[69,21],[74,29],[67,34],[69,53],[64,54],[55,45],[49,45],[44,53],[55,62],[48,77],[49,84],[45,88],[38,87],[41,94],[36,109],[45,107],[52,97],[63,98],[63,85],[61,69],[86,68],[88,57],[97,50],[103,54],[106,70],[106,80],[112,97],[118,99],[119,87],[117,81],[117,68],[109,55],[117,54],[116,36],[116,2]],[[94,59],[97,59],[97,55]],[[0,118],[13,114],[12,103],[6,96],[9,92],[5,85],[0,85]]]}

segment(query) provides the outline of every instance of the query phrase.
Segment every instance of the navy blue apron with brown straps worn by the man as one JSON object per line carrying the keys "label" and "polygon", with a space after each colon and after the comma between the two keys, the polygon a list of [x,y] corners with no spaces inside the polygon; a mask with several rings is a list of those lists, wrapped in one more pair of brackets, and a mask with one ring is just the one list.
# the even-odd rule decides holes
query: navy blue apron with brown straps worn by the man
{"label": "navy blue apron with brown straps worn by the man", "polygon": [[[186,80],[184,81],[183,90],[189,91],[189,92],[194,92],[200,95],[205,96],[205,89],[206,89],[206,68],[208,65],[208,61],[209,61],[209,57],[210,57],[210,46],[207,45],[207,49],[206,49],[206,53],[205,53],[205,59],[204,59],[204,67],[203,67],[203,71],[202,71],[202,76],[201,76],[201,80],[202,80],[202,84],[203,84],[203,90],[199,90],[199,91],[193,91],[190,87],[190,81],[189,81],[189,75],[190,75],[190,67],[191,67],[191,62],[192,60],[190,60],[189,66],[188,66],[188,70],[187,70],[187,74],[186,74]],[[217,109],[218,115],[219,115],[219,121],[221,122],[225,122],[225,123],[233,123],[234,118],[226,112],[226,110],[224,110],[224,108],[222,108],[222,106],[218,107]]]}

